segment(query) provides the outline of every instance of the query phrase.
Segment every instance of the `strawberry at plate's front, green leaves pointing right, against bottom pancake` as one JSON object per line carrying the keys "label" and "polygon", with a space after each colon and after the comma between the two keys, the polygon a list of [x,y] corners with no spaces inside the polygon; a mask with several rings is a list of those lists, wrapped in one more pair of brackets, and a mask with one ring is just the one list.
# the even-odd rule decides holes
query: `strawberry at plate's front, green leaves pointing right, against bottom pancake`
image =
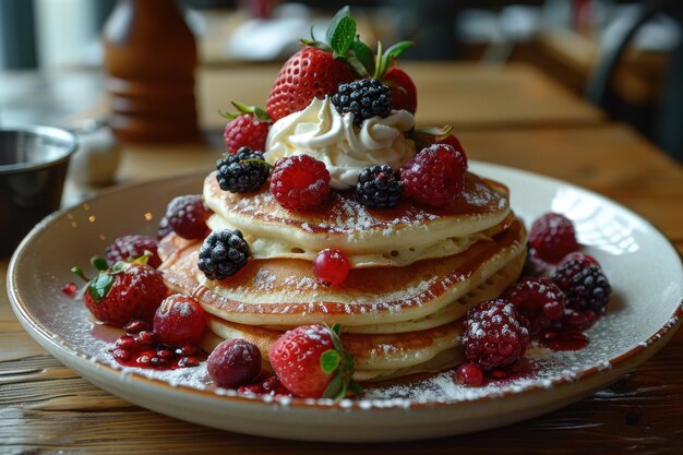
{"label": "strawberry at plate's front, green leaves pointing right, against bottom pancake", "polygon": [[339,342],[339,325],[305,325],[288,331],[273,345],[269,360],[281,384],[300,397],[342,399],[358,392],[351,381],[354,358]]}

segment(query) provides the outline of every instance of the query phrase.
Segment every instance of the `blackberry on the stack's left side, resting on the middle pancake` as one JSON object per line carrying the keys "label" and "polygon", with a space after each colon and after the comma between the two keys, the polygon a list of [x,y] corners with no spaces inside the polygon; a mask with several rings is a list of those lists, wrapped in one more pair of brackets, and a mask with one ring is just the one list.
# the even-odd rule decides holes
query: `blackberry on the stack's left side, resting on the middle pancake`
{"label": "blackberry on the stack's left side, resting on the middle pancake", "polygon": [[208,279],[224,279],[247,264],[249,243],[238,229],[213,231],[200,249],[197,266]]}

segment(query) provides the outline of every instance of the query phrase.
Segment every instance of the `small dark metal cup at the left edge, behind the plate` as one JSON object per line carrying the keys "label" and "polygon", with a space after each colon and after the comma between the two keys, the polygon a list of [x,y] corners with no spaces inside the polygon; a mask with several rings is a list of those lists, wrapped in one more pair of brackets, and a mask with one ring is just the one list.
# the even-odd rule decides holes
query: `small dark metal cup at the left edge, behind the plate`
{"label": "small dark metal cup at the left edge, behind the plate", "polygon": [[59,208],[76,137],[50,127],[0,129],[0,255]]}

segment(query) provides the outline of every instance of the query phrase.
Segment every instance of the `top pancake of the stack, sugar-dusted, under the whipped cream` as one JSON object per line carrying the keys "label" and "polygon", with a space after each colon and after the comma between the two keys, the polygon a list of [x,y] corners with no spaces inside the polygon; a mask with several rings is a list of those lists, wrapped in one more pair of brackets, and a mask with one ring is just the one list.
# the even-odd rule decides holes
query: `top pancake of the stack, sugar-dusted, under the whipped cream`
{"label": "top pancake of the stack, sugar-dusted, under the whipped cream", "polygon": [[446,207],[416,206],[404,201],[392,209],[373,211],[352,193],[332,192],[320,209],[283,208],[264,187],[253,194],[220,190],[215,173],[204,181],[204,201],[214,212],[213,230],[239,229],[254,259],[312,261],[334,246],[352,267],[404,266],[424,259],[450,256],[493,236],[510,216],[508,190],[467,173],[460,197]]}

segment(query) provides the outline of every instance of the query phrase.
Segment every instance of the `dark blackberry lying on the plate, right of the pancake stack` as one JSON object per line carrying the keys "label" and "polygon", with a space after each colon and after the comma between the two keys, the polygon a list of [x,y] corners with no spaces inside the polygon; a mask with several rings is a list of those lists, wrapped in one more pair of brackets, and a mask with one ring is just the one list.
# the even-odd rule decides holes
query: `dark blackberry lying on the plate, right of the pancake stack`
{"label": "dark blackberry lying on the plate, right of the pancake stack", "polygon": [[570,259],[558,266],[552,280],[566,296],[571,310],[604,314],[612,287],[602,270],[582,259]]}

